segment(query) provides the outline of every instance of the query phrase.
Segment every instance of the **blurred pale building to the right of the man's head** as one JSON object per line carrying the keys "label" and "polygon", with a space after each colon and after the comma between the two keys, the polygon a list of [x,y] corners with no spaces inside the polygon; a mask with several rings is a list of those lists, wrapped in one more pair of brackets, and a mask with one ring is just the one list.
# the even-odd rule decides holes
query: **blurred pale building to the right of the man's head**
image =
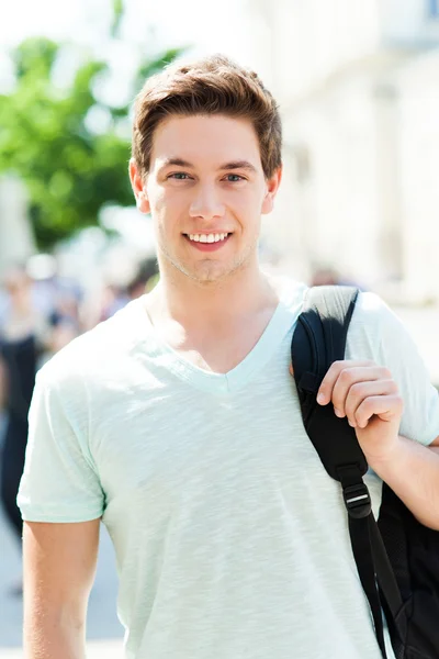
{"label": "blurred pale building to the right of the man's head", "polygon": [[439,0],[255,0],[248,22],[284,121],[272,253],[439,301]]}

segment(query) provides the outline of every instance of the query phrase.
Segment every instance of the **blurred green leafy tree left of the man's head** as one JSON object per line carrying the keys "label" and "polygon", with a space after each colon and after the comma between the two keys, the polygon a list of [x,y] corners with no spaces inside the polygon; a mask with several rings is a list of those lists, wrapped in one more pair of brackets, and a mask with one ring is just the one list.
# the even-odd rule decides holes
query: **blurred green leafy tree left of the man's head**
{"label": "blurred green leafy tree left of the man's head", "polygon": [[[114,2],[114,38],[122,2]],[[95,88],[109,72],[105,62],[78,66],[70,85],[60,89],[54,69],[64,44],[30,38],[11,54],[15,87],[0,96],[0,172],[12,171],[26,185],[37,244],[49,248],[77,230],[93,225],[106,203],[133,204],[127,177],[128,103],[111,107]],[[133,71],[133,93],[145,78],[172,62],[181,49],[168,49]],[[87,118],[100,113],[103,133]]]}

